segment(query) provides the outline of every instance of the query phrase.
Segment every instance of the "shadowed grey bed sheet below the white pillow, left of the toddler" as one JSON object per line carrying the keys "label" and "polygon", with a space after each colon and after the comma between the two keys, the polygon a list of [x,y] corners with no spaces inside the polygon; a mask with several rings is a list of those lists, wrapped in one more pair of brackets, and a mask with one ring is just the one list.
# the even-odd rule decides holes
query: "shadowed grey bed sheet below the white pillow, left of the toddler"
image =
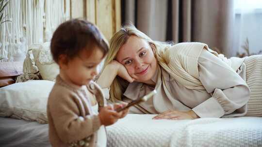
{"label": "shadowed grey bed sheet below the white pillow, left of the toddler", "polygon": [[0,118],[1,147],[51,147],[48,124],[23,119]]}

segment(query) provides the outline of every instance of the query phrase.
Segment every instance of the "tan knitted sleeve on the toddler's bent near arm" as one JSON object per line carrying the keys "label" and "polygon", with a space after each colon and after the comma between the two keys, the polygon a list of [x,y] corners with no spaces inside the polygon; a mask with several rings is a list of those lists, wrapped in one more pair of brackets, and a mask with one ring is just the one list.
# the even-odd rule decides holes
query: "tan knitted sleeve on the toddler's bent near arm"
{"label": "tan knitted sleeve on the toddler's bent near arm", "polygon": [[101,126],[98,115],[81,116],[78,101],[77,96],[67,91],[49,96],[49,113],[59,138],[65,143],[88,137]]}

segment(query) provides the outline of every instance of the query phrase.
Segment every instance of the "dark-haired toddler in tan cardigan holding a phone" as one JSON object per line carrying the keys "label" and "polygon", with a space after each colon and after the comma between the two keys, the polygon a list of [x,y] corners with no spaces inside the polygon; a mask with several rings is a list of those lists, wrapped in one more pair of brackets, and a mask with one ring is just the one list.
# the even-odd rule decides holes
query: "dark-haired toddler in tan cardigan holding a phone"
{"label": "dark-haired toddler in tan cardigan holding a phone", "polygon": [[106,105],[101,89],[92,81],[108,43],[90,22],[62,23],[51,40],[51,53],[60,67],[47,105],[49,140],[53,147],[106,147],[105,127],[127,115],[117,113],[126,103]]}

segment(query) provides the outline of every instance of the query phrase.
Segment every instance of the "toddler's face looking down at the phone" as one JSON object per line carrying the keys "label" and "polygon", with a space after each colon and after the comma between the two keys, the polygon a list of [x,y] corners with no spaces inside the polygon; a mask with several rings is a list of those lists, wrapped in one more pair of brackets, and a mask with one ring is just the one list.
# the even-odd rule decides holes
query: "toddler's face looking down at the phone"
{"label": "toddler's face looking down at the phone", "polygon": [[90,49],[82,50],[78,56],[68,61],[67,69],[64,70],[67,78],[78,86],[89,84],[98,75],[98,64],[103,55],[98,46],[94,46],[92,52]]}

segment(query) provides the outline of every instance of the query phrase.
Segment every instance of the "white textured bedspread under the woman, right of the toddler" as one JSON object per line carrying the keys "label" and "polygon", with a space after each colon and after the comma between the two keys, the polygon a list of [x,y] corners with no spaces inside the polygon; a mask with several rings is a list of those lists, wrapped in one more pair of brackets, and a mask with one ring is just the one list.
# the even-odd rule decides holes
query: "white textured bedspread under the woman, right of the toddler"
{"label": "white textured bedspread under the woman, right of the toddler", "polygon": [[129,114],[107,127],[108,147],[262,147],[262,118],[154,120]]}

